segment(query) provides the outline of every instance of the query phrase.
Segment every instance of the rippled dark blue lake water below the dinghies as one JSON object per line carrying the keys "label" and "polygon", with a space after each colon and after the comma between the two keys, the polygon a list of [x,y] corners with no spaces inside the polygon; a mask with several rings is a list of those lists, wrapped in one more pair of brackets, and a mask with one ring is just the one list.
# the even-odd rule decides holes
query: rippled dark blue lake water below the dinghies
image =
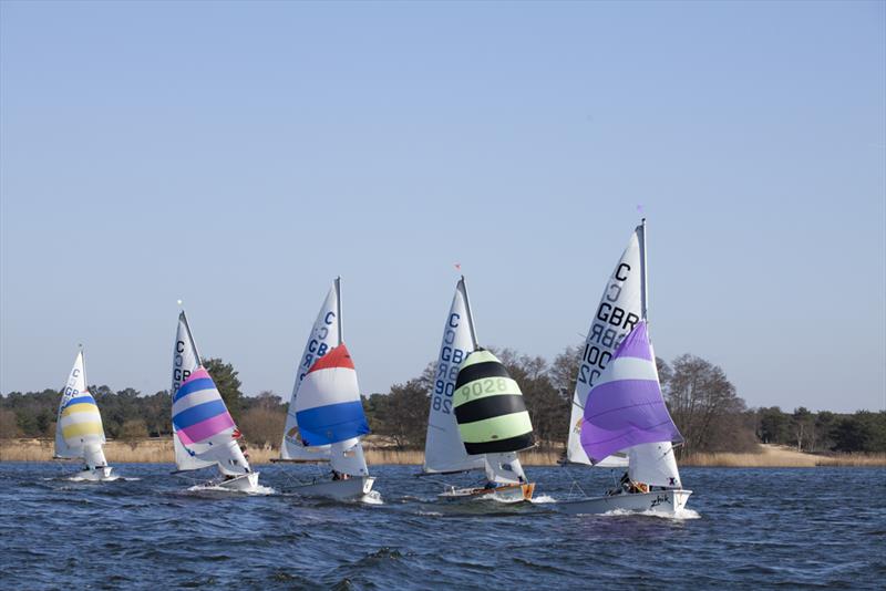
{"label": "rippled dark blue lake water below the dinghies", "polygon": [[[527,468],[533,505],[437,502],[440,480],[372,466],[383,504],[287,495],[311,466],[262,466],[269,496],[204,498],[171,465],[73,483],[71,464],[0,464],[4,589],[883,589],[886,469],[684,468],[683,519],[565,516],[573,479]],[[447,477],[467,484],[472,476]]]}

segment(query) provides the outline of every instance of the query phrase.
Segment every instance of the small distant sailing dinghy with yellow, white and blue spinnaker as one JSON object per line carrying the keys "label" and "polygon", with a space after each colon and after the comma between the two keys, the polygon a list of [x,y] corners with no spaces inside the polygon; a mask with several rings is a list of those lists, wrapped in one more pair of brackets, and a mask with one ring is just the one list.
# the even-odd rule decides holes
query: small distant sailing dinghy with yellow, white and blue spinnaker
{"label": "small distant sailing dinghy with yellow, white and blue spinnaker", "polygon": [[55,458],[83,458],[76,480],[115,480],[102,446],[105,443],[102,415],[86,387],[86,367],[81,349],[59,403],[55,422]]}

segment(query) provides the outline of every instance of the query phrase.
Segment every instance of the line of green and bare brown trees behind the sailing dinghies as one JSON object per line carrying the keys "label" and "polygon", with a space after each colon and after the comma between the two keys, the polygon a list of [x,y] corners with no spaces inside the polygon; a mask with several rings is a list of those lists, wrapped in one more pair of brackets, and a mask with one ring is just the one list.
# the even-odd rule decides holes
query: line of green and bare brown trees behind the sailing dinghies
{"label": "line of green and bare brown trees behind the sailing dinghies", "polygon": [[[566,348],[553,362],[493,350],[521,385],[539,447],[563,448],[580,359],[580,345]],[[684,354],[671,363],[657,359],[668,408],[684,442],[678,455],[753,452],[758,443],[790,445],[801,452],[886,452],[886,412],[813,413],[800,407],[748,408],[725,372],[709,361]],[[237,371],[220,359],[205,366],[234,419],[249,443],[278,446],[286,424],[286,405],[272,392],[243,393]],[[401,449],[422,449],[427,427],[434,364],[387,393],[363,397],[370,428]],[[168,391],[142,395],[133,388],[113,392],[91,386],[109,438],[134,440],[172,435]],[[11,392],[0,397],[0,437],[53,437],[61,392]],[[288,396],[287,396],[288,398]]]}

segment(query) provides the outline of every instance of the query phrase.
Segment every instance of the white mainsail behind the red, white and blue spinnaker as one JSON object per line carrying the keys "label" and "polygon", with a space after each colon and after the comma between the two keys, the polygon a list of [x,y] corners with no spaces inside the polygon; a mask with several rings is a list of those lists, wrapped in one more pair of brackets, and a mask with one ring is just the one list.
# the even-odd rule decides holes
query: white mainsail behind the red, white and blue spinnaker
{"label": "white mainsail behind the red, white and blue spinnaker", "polygon": [[289,400],[289,409],[286,414],[286,428],[284,439],[280,445],[280,458],[293,460],[328,460],[331,448],[328,445],[306,447],[299,434],[298,416],[296,416],[296,401],[298,400],[299,387],[302,380],[308,375],[311,365],[326,355],[332,349],[341,344],[341,296],[340,280],[337,278],[329,293],[327,293],[323,305],[317,314],[305,351],[301,353],[298,367],[296,367],[296,383],[292,386],[292,395]]}

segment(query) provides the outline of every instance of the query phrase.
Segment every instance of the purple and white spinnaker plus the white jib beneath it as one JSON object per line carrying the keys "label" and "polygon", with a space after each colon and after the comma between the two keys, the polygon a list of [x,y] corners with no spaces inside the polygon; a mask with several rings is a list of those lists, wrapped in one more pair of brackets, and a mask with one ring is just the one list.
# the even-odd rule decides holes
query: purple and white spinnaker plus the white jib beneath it
{"label": "purple and white spinnaker plus the white jib beneath it", "polygon": [[661,395],[656,356],[641,320],[621,341],[588,397],[581,447],[595,463],[627,450],[632,480],[680,487],[670,443],[681,440]]}

